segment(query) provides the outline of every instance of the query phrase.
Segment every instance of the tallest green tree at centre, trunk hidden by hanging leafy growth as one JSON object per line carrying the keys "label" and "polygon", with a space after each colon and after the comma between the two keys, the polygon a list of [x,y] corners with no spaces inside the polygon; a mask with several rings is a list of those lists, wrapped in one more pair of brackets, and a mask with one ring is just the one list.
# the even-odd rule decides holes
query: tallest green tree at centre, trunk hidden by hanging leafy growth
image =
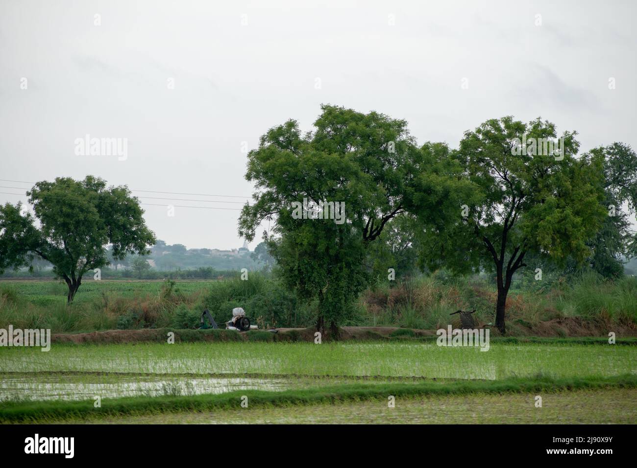
{"label": "tallest green tree at centre, trunk hidden by hanging leafy growth", "polygon": [[[416,185],[431,188],[417,173],[420,155],[404,120],[329,105],[313,131],[302,134],[289,120],[248,154],[246,178],[257,193],[241,213],[240,236],[250,241],[264,220],[273,220],[269,252],[290,288],[318,300],[318,330],[338,334],[369,284],[368,247],[387,223],[415,206],[427,217],[427,197],[438,207],[442,192],[416,194]],[[292,203],[304,199],[342,203],[343,219],[299,219]]]}

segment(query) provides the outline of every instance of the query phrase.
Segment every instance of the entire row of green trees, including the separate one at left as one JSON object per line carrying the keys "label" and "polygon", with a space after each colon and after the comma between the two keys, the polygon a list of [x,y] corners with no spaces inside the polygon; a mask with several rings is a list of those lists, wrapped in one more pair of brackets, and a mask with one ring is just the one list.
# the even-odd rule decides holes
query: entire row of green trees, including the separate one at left
{"label": "entire row of green trees, including the separate one at left", "polygon": [[[627,145],[576,157],[576,133],[567,131],[559,152],[522,148],[558,138],[539,118],[488,120],[465,132],[457,149],[417,145],[404,120],[376,112],[326,105],[314,125],[303,134],[289,120],[249,153],[246,178],[257,193],[241,211],[239,233],[252,241],[264,220],[273,221],[252,260],[276,261],[299,297],[318,300],[318,330],[338,334],[375,270],[410,269],[415,260],[431,270],[492,273],[496,325],[505,332],[506,297],[520,269],[588,262],[616,276],[622,259],[636,254],[629,215],[637,208],[637,156]],[[69,302],[87,271],[157,245],[127,187],[57,178],[27,195],[32,211],[0,206],[0,273],[46,260],[66,281]],[[299,218],[293,202],[304,199],[342,203],[345,222]]]}

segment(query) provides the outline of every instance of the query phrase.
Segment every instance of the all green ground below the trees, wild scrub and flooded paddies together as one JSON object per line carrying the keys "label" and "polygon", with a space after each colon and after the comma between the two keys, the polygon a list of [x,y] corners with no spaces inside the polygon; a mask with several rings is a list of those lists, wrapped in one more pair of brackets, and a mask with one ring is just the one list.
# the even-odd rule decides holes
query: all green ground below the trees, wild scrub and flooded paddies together
{"label": "all green ground below the trees, wild scrub and flooded paddies together", "polygon": [[[311,323],[312,304],[258,274],[87,281],[72,306],[59,283],[0,281],[0,328],[154,329],[143,332],[153,342],[0,347],[0,422],[637,422],[637,280],[588,276],[517,290],[507,303],[510,335],[492,330],[489,351],[439,347],[435,336],[411,330],[446,326],[456,309],[490,321],[493,295],[479,281],[434,277],[378,287],[362,295],[348,325],[403,328],[384,339],[369,334],[375,341],[313,344],[281,341],[283,333],[193,330],[204,306],[222,320],[244,306],[262,328]],[[177,343],[165,343],[166,327]],[[538,330],[540,338],[528,338]],[[608,330],[617,344],[608,344]],[[213,341],[203,341],[208,334]],[[387,407],[389,395],[396,408]],[[537,395],[543,408],[534,406]],[[239,406],[244,396],[249,409]]]}

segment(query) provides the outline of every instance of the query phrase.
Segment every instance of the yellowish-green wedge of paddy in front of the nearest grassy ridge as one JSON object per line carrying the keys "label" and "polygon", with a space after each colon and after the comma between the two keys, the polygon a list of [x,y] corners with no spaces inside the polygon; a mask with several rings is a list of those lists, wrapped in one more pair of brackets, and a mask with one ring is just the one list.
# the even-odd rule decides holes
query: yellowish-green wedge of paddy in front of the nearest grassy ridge
{"label": "yellowish-green wedge of paddy in front of the nearest grassy ridge", "polygon": [[631,424],[637,421],[637,389],[577,390],[543,396],[536,394],[426,395],[396,401],[394,408],[381,399],[313,404],[290,408],[255,408],[162,413],[102,418],[117,424]]}

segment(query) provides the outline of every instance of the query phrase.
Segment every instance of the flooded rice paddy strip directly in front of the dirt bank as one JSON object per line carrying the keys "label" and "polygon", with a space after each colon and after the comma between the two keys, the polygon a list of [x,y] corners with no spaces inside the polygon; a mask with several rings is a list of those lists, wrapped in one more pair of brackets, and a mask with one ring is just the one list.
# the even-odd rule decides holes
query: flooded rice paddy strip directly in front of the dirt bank
{"label": "flooded rice paddy strip directly in front of the dirt bank", "polygon": [[502,379],[612,376],[637,371],[637,346],[435,343],[180,343],[0,348],[3,372],[122,372]]}

